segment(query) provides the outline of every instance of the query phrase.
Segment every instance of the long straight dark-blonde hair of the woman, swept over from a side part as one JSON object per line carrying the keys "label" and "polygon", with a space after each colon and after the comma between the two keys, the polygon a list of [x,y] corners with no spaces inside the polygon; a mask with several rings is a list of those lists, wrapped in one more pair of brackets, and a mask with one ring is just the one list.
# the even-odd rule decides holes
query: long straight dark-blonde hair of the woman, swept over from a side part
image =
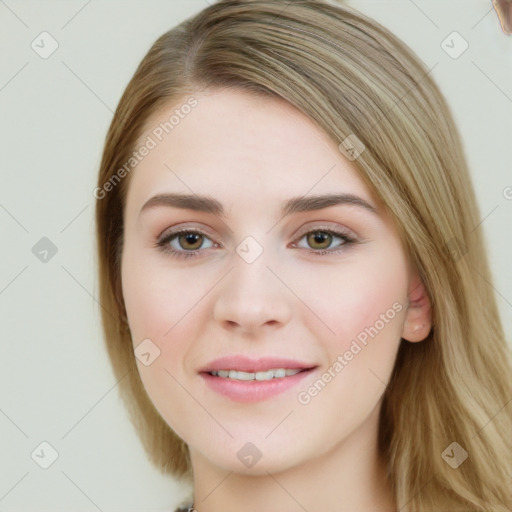
{"label": "long straight dark-blonde hair of the woman, swept over from a side part", "polygon": [[[96,194],[102,321],[152,463],[191,477],[188,448],[135,364],[120,278],[130,180],[113,179],[151,115],[217,87],[284,98],[337,144],[355,135],[366,149],[353,164],[395,219],[428,290],[433,328],[421,343],[401,341],[381,409],[379,446],[399,509],[510,511],[511,355],[458,131],[404,43],[319,0],[223,0],[184,21],[144,57],[108,131]],[[466,452],[460,465],[449,463]]]}

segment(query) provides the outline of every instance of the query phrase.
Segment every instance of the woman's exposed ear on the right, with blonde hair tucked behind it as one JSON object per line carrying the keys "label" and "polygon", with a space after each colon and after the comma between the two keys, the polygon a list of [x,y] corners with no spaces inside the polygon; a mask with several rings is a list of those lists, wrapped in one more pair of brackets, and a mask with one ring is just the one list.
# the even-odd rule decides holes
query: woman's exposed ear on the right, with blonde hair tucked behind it
{"label": "woman's exposed ear on the right, with blonde hair tucked behind it", "polygon": [[432,328],[431,304],[425,285],[417,272],[410,279],[408,299],[402,338],[413,343],[423,341]]}

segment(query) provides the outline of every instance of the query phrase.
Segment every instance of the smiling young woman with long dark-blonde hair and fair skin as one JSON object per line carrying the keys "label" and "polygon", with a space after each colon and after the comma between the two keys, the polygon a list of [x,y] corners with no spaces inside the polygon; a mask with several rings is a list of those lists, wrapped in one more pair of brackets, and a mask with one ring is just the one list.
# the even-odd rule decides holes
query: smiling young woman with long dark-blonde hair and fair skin
{"label": "smiling young woman with long dark-blonde hair and fair skin", "polygon": [[314,0],[206,8],[141,62],[96,197],[114,372],[187,506],[510,510],[475,194],[389,31]]}

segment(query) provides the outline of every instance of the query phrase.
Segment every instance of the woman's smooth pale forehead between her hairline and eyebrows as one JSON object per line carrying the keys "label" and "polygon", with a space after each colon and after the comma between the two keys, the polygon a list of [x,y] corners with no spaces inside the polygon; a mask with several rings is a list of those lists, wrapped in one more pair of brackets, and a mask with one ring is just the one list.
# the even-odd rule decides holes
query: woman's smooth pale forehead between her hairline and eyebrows
{"label": "woman's smooth pale forehead between her hairline and eyebrows", "polygon": [[183,97],[146,124],[139,145],[150,137],[155,147],[131,175],[137,203],[169,190],[226,201],[310,191],[372,197],[337,144],[286,101],[239,90],[193,98],[193,108],[182,109],[190,99]]}

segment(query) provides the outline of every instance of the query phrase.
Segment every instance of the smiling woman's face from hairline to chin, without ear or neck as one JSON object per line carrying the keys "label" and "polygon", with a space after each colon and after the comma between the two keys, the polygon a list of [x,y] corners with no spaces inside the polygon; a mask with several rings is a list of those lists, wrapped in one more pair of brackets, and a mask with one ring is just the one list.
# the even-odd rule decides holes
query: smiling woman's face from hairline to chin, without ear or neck
{"label": "smiling woman's face from hairline to chin, without ear or neck", "polygon": [[148,395],[193,462],[226,470],[373,443],[417,285],[390,219],[289,104],[195,98],[154,117],[129,177],[122,285]]}

